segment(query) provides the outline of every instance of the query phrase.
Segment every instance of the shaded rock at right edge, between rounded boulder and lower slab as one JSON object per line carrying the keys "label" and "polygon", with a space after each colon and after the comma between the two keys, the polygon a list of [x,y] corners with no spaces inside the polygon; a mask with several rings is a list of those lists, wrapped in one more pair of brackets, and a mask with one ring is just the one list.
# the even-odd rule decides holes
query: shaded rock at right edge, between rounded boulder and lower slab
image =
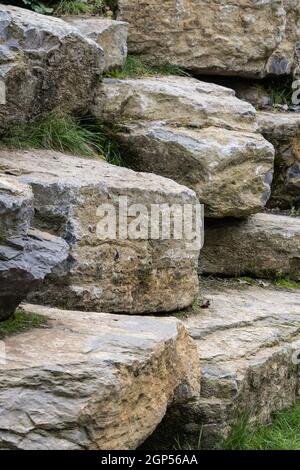
{"label": "shaded rock at right edge, between rounded boulder and lower slab", "polygon": [[282,274],[300,280],[300,218],[262,213],[206,221],[199,267],[227,276]]}

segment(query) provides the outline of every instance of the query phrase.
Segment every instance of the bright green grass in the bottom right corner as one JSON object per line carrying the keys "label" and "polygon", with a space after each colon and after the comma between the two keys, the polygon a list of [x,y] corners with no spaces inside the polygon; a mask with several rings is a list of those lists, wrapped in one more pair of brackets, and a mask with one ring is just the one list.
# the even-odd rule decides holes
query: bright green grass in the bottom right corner
{"label": "bright green grass in the bottom right corner", "polygon": [[226,439],[227,450],[300,450],[300,403],[276,412],[272,421],[251,431],[247,417],[237,425]]}

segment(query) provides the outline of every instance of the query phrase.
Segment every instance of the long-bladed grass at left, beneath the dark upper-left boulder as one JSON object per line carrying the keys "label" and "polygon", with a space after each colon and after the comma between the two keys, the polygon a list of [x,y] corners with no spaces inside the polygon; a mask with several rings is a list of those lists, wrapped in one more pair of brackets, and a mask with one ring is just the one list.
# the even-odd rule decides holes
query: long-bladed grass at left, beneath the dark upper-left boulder
{"label": "long-bladed grass at left, beneath the dark upper-left boulder", "polygon": [[120,164],[117,144],[111,139],[112,132],[104,126],[88,122],[82,124],[70,116],[52,114],[39,122],[13,127],[3,136],[1,145],[20,150],[57,150],[84,157],[106,158]]}

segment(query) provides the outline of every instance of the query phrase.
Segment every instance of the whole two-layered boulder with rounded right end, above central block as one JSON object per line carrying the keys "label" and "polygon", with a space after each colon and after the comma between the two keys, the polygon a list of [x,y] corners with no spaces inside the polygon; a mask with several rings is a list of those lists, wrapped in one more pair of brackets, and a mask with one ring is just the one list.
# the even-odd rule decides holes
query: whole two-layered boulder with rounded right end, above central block
{"label": "whole two-layered boulder with rounded right end, above central block", "polygon": [[192,78],[104,80],[93,114],[116,124],[124,161],[192,188],[208,217],[258,212],[270,196],[274,151],[254,108]]}

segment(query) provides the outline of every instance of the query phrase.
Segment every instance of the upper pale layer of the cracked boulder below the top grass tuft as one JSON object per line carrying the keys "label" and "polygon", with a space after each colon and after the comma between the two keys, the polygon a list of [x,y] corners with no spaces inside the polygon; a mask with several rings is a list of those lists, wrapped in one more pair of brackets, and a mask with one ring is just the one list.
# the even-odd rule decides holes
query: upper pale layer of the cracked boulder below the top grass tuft
{"label": "upper pale layer of the cracked boulder below the top grass tuft", "polygon": [[253,106],[235,92],[189,77],[104,79],[98,86],[93,113],[103,121],[163,121],[168,125],[222,127],[255,132]]}

